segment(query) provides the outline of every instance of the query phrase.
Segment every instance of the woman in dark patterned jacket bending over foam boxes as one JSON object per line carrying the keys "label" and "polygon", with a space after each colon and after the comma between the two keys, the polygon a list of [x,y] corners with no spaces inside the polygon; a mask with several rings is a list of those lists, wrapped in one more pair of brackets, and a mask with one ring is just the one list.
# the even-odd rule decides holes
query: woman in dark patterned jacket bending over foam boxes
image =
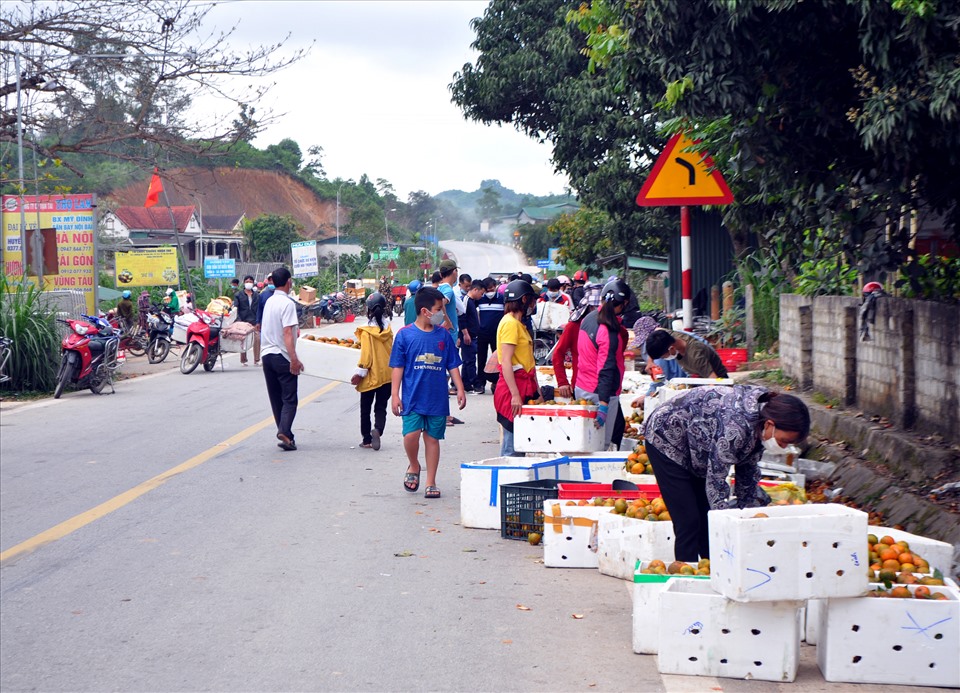
{"label": "woman in dark patterned jacket bending over foam boxes", "polygon": [[673,520],[674,558],[709,558],[707,512],[730,505],[727,473],[736,470],[735,507],[767,505],[758,486],[764,450],[803,441],[807,405],[763,387],[699,387],[661,404],[644,425],[647,455]]}

